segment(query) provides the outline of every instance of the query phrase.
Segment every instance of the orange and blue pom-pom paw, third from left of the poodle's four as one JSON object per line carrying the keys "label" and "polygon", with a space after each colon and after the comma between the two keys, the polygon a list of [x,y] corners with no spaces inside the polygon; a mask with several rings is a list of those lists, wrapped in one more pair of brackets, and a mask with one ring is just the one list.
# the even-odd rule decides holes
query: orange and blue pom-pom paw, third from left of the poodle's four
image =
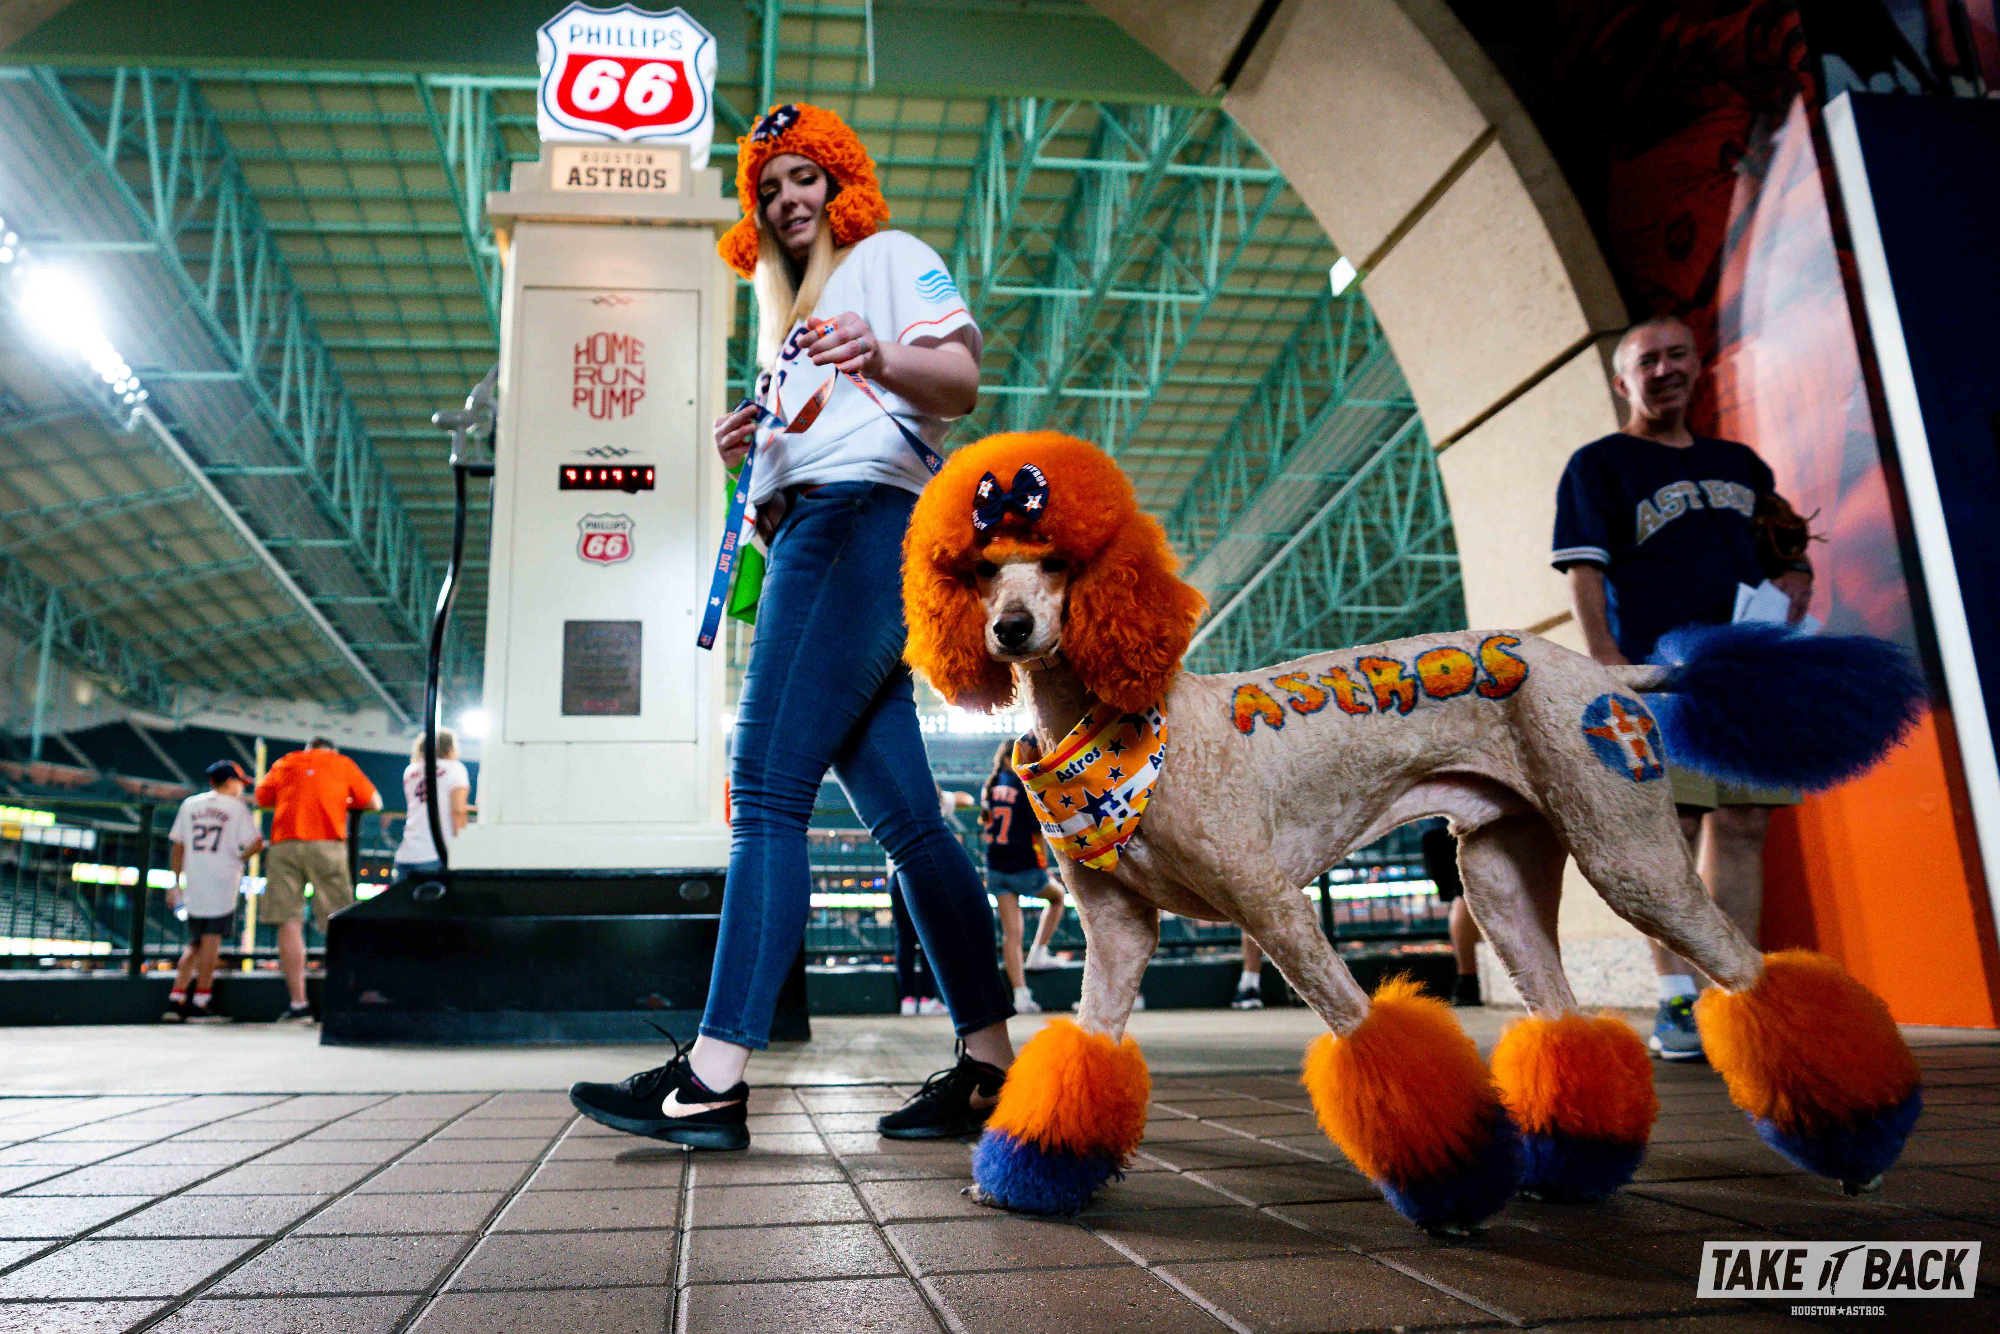
{"label": "orange and blue pom-pom paw, third from left of the poodle's four", "polygon": [[1520,1190],[1538,1200],[1602,1200],[1632,1180],[1660,1098],[1652,1062],[1618,1018],[1526,1018],[1494,1048],[1494,1080],[1520,1128]]}

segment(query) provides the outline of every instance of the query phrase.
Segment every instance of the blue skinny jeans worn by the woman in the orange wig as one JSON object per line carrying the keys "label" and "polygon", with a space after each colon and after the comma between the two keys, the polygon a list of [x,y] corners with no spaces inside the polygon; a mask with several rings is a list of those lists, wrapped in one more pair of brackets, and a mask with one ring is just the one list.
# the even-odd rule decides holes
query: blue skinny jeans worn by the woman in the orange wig
{"label": "blue skinny jeans worn by the woman in the orange wig", "polygon": [[772,540],[730,746],[730,874],[702,1014],[710,1038],[770,1044],[778,988],[806,940],[806,822],[828,768],[902,872],[958,1034],[1014,1014],[992,904],[938,812],[902,664],[902,534],[914,506],[900,486],[836,482],[800,494]]}

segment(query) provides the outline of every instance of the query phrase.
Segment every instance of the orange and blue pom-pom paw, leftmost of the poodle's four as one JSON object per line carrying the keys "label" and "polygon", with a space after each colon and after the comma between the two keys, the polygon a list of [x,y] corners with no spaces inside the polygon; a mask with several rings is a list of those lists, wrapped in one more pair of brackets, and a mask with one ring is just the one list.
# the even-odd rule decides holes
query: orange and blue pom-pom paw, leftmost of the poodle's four
{"label": "orange and blue pom-pom paw, leftmost of the poodle's four", "polygon": [[1020,1048],[1000,1106],[972,1152],[978,1202],[1020,1214],[1076,1214],[1146,1132],[1152,1078],[1130,1036],[1112,1042],[1050,1020]]}

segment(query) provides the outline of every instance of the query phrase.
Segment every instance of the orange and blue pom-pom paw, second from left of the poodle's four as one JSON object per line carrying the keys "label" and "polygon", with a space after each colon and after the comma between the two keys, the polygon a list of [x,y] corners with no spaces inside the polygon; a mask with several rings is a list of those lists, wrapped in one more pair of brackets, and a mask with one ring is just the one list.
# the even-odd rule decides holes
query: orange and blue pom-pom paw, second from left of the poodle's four
{"label": "orange and blue pom-pom paw, second from left of the poodle's four", "polygon": [[1520,1138],[1478,1048],[1406,978],[1382,984],[1360,1028],[1306,1050],[1304,1082],[1326,1136],[1424,1228],[1472,1228],[1520,1182]]}

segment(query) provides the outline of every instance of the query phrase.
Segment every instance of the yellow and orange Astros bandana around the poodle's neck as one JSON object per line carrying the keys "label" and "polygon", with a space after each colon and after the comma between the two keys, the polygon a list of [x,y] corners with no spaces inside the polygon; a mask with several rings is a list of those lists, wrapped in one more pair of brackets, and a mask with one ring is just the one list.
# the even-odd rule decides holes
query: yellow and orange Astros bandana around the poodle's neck
{"label": "yellow and orange Astros bandana around the poodle's neck", "polygon": [[1096,870],[1116,866],[1118,848],[1138,834],[1164,762],[1166,718],[1158,708],[1114,714],[1098,704],[1046,760],[1024,760],[1014,742],[1014,772],[1048,842]]}

